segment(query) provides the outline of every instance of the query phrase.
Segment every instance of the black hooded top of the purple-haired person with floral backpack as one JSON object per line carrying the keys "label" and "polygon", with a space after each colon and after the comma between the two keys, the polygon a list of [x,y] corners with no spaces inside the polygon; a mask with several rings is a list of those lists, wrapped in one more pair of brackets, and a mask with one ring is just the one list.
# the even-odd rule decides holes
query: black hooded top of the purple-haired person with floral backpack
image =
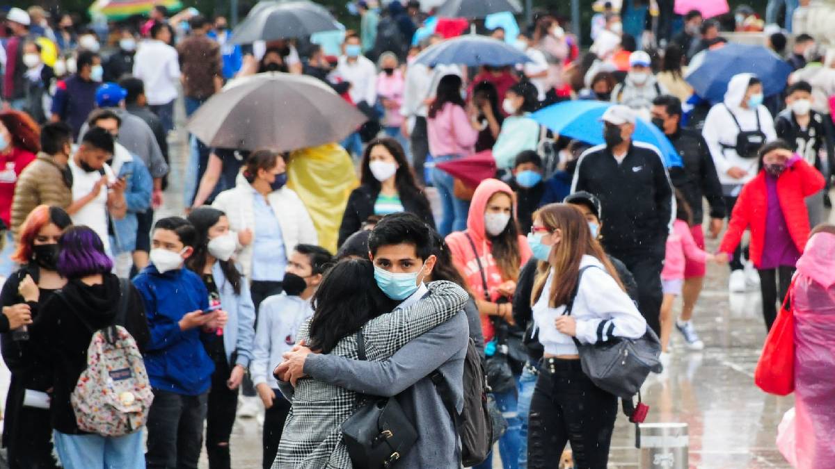
{"label": "black hooded top of the purple-haired person with floral backpack", "polygon": [[[121,285],[113,274],[104,275],[101,285],[85,285],[71,279],[41,308],[32,326],[32,340],[45,345],[47,369],[53,376],[53,394],[49,408],[53,429],[75,435],[78,430],[69,396],[78,376],[87,368],[87,349],[93,330],[89,325],[103,328],[113,325],[119,309]],[[139,291],[130,284],[130,297],[124,328],[134,336],[139,350],[150,338],[148,320]]]}

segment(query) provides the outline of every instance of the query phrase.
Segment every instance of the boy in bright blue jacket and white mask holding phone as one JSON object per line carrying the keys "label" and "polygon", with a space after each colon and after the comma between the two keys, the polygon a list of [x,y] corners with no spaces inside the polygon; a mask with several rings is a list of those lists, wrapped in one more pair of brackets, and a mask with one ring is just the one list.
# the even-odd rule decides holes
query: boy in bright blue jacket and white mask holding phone
{"label": "boy in bright blue jacket and white mask holding phone", "polygon": [[204,340],[225,325],[223,311],[208,311],[203,280],[184,269],[194,252],[195,227],[180,217],[154,224],[150,260],[134,277],[142,295],[151,338],[144,356],[154,388],[148,412],[148,469],[195,468],[215,366]]}

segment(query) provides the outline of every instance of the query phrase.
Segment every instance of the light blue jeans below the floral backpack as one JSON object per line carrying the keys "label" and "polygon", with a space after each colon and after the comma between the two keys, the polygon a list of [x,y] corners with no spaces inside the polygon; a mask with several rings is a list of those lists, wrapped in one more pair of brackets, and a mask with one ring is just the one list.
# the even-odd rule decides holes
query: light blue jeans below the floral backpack
{"label": "light blue jeans below the floral backpack", "polygon": [[53,431],[64,469],[145,469],[142,431],[125,436],[68,435]]}

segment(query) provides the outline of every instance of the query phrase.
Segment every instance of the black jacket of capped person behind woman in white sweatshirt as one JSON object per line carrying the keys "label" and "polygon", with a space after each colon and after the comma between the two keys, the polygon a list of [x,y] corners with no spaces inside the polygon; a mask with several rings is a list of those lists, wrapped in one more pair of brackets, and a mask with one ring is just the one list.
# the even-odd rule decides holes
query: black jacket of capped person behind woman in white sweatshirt
{"label": "black jacket of capped person behind woman in white sweatshirt", "polygon": [[[635,283],[635,277],[626,268],[623,262],[609,256],[609,261],[615,267],[620,282],[624,284],[626,294],[630,298],[638,302],[638,284]],[[539,360],[542,356],[542,345],[539,343],[539,332],[531,338],[533,329],[534,311],[530,304],[530,296],[534,290],[534,280],[536,280],[536,268],[539,265],[539,260],[530,258],[527,264],[524,265],[519,272],[519,281],[516,283],[516,293],[514,294],[514,321],[516,325],[525,330],[525,345],[528,346],[529,356],[533,361]]]}

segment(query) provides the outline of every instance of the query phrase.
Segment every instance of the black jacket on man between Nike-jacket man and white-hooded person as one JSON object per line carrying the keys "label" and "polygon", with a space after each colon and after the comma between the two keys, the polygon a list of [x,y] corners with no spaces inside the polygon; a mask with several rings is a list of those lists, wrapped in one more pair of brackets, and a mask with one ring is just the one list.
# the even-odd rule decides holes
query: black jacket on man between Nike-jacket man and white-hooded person
{"label": "black jacket on man between Nike-jacket man and white-hooded person", "polygon": [[679,129],[676,134],[668,135],[673,146],[681,155],[684,169],[670,170],[670,177],[676,189],[690,204],[693,211],[693,223],[701,224],[705,218],[701,198],[711,204],[711,218],[725,218],[725,199],[722,198],[722,185],[716,174],[711,151],[700,132],[691,129]]}

